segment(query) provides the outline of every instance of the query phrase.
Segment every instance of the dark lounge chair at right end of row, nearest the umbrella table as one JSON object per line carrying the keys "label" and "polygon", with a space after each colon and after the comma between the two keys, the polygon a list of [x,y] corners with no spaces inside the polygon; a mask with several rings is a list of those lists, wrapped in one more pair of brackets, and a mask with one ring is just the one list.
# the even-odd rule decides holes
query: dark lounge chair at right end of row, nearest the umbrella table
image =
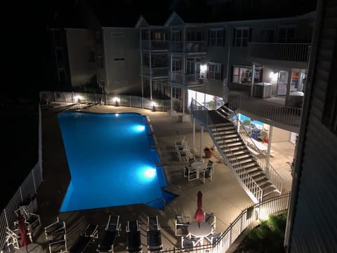
{"label": "dark lounge chair at right end of row, nearest the umbrella table", "polygon": [[161,243],[161,231],[158,222],[158,216],[147,217],[147,252],[161,252],[163,245]]}

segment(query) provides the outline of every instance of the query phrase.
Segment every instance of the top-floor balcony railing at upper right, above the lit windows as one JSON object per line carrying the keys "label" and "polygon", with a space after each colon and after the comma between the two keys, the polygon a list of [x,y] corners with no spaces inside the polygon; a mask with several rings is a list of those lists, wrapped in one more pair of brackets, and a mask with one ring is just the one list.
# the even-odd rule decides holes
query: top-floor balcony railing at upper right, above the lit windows
{"label": "top-floor balcony railing at upper right, above the lit windows", "polygon": [[249,57],[305,63],[310,43],[249,43]]}

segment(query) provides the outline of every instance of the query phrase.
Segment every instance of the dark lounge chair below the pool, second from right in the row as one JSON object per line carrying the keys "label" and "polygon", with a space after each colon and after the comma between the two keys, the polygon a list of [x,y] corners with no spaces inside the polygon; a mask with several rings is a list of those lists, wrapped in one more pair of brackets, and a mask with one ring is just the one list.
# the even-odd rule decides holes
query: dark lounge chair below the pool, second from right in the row
{"label": "dark lounge chair below the pool, second from right in the row", "polygon": [[128,225],[126,226],[126,234],[126,250],[130,253],[143,252],[138,220],[128,221]]}

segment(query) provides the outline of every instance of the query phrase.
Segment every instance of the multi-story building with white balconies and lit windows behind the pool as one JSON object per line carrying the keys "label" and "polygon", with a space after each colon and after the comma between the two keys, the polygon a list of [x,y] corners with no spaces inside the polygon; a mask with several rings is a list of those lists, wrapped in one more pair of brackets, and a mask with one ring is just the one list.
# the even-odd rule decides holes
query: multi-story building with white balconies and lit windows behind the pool
{"label": "multi-story building with white balconies and lit windows behind the pool", "polygon": [[[86,13],[85,29],[62,30],[67,52],[62,70],[69,74],[74,89],[85,87],[112,95],[138,93],[150,100],[171,98],[170,115],[182,111],[183,121],[190,120],[185,112],[191,110],[192,98],[213,110],[231,103],[232,110],[266,125],[263,129],[268,131],[270,143],[274,126],[288,131],[286,138],[295,143],[315,12],[288,18],[195,22],[195,18],[173,11],[167,19],[152,21],[141,15],[137,21],[123,24],[122,20],[105,21],[85,4],[82,11]],[[55,36],[52,38],[56,45]],[[58,48],[54,52],[58,57]],[[236,91],[237,96],[229,98],[230,91]],[[261,98],[272,98],[281,105]],[[194,119],[196,115],[192,115]],[[209,122],[199,119],[199,123],[213,134],[214,128],[207,127]],[[236,139],[239,143],[235,145],[248,145],[241,137]],[[221,151],[223,143],[215,138],[214,143]],[[246,174],[250,181],[242,181],[244,188],[253,186],[246,191],[255,202],[282,191],[282,186],[274,187],[277,182],[266,184],[269,179],[265,174],[273,173],[269,157],[270,145],[264,165],[254,165],[251,174]],[[247,164],[243,157],[236,159],[243,161],[240,166]],[[255,158],[249,160],[256,163]],[[263,180],[255,169],[261,171]]]}

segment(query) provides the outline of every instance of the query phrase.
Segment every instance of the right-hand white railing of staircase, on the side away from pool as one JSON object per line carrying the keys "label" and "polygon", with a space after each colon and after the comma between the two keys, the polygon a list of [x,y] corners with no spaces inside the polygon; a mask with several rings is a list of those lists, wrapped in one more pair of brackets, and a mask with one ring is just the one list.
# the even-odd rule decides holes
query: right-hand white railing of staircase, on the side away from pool
{"label": "right-hand white railing of staircase, on the side away from pool", "polygon": [[265,157],[265,154],[258,148],[258,146],[254,143],[253,138],[248,134],[246,129],[244,128],[244,125],[239,120],[238,115],[234,112],[234,116],[237,119],[237,124],[239,124],[239,135],[241,136],[242,140],[246,144],[248,148],[250,148],[251,154],[255,158],[256,162],[258,162],[258,165],[263,169],[263,172],[267,176],[270,181],[274,184],[274,186],[277,188],[279,193],[282,193],[283,188],[283,179],[277,171],[272,167],[272,164],[267,162],[267,159]]}

